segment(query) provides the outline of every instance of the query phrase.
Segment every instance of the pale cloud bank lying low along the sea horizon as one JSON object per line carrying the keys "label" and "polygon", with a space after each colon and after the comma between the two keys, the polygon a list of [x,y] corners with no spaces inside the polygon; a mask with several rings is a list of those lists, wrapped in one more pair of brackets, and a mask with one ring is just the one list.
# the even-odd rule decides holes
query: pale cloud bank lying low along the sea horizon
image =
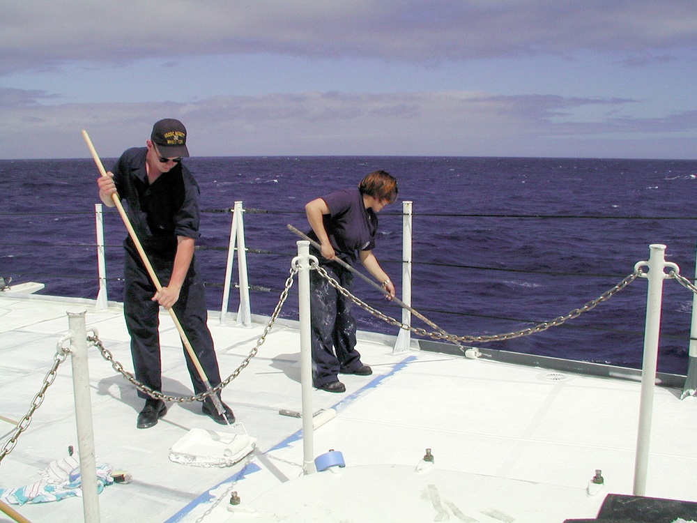
{"label": "pale cloud bank lying low along the sea horizon", "polygon": [[[195,156],[443,155],[694,156],[669,137],[694,132],[695,112],[636,119],[636,100],[502,96],[479,91],[419,93],[306,92],[219,96],[192,103],[0,104],[0,158],[87,156],[85,128],[104,157],[142,146],[153,122],[181,119]],[[38,96],[43,96],[39,93]],[[12,98],[12,97],[10,97]],[[0,100],[4,94],[0,91]],[[575,112],[601,109],[581,121]],[[620,114],[624,110],[626,114]],[[604,137],[607,137],[604,139]],[[663,140],[663,142],[661,142]],[[615,149],[613,149],[613,146]],[[683,147],[682,152],[678,146]],[[629,151],[632,154],[629,154]],[[645,153],[644,153],[645,154]]]}

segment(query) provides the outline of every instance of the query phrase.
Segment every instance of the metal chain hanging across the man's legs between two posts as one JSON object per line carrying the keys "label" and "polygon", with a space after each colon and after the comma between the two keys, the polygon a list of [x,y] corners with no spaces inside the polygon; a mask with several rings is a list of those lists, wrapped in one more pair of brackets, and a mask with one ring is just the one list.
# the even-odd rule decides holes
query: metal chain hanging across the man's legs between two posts
{"label": "metal chain hanging across the man's legs between two posts", "polygon": [[236,379],[240,375],[240,372],[242,372],[247,365],[250,364],[250,361],[252,361],[252,358],[256,356],[256,354],[259,352],[259,349],[261,348],[261,345],[266,341],[266,336],[268,333],[271,331],[271,328],[273,327],[273,324],[275,323],[276,319],[278,318],[278,315],[281,312],[281,309],[283,308],[284,303],[286,302],[286,298],[288,298],[288,293],[293,286],[293,278],[298,272],[298,268],[296,267],[291,267],[290,270],[290,275],[288,278],[286,278],[286,282],[284,285],[284,289],[281,291],[281,294],[279,296],[278,303],[276,304],[276,307],[273,310],[273,313],[271,314],[271,317],[266,324],[266,327],[264,327],[263,333],[261,333],[261,336],[259,336],[259,339],[256,340],[256,345],[250,350],[250,354],[240,363],[240,365],[234,370],[232,374],[229,375],[226,379],[220,382],[220,384],[217,384],[214,387],[211,387],[210,390],[199,393],[197,395],[193,396],[172,396],[172,395],[167,395],[167,394],[162,394],[159,391],[155,391],[152,388],[148,387],[147,385],[142,384],[140,381],[138,381],[133,374],[128,372],[123,368],[123,365],[116,361],[114,359],[114,355],[109,351],[105,346],[104,343],[99,339],[99,334],[96,331],[95,328],[89,328],[88,330],[93,333],[93,335],[88,335],[87,336],[87,341],[94,344],[95,347],[97,347],[102,354],[102,358],[104,358],[106,361],[109,361],[109,363],[112,364],[112,367],[116,372],[121,374],[126,380],[130,381],[132,385],[134,385],[139,391],[146,393],[148,396],[155,398],[156,400],[164,400],[164,401],[169,401],[169,402],[178,402],[178,403],[184,403],[184,402],[194,402],[194,401],[203,401],[205,397],[211,395],[211,394],[216,394],[219,391],[222,391],[223,388],[228,386],[230,382],[233,379]]}

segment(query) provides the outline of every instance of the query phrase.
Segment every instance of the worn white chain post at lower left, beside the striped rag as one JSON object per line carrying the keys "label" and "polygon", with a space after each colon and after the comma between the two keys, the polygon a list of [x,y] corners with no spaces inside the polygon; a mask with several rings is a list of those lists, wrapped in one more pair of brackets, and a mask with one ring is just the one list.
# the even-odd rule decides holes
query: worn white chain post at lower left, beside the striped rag
{"label": "worn white chain post at lower left, beside the striped rag", "polygon": [[80,480],[82,482],[82,510],[86,523],[99,523],[99,493],[97,490],[97,463],[92,427],[89,366],[87,365],[85,312],[68,312],[68,325],[72,333],[70,363],[72,364],[72,390],[75,393],[77,448],[80,455]]}

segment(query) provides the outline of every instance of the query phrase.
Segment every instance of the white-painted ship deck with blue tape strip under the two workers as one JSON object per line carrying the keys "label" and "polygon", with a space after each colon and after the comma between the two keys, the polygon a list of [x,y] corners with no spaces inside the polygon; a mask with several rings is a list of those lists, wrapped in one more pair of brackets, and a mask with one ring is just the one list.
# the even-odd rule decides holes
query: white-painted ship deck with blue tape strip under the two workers
{"label": "white-painted ship deck with blue tape strip under the two workers", "polygon": [[[132,369],[120,306],[95,312],[92,301],[0,293],[0,444],[52,365],[56,344],[68,331],[68,311],[86,311],[87,326],[97,328],[114,358]],[[164,393],[190,395],[178,335],[169,315],[161,319]],[[209,324],[227,377],[263,326],[221,325],[213,314]],[[245,460],[223,468],[176,464],[169,448],[194,427],[238,432],[240,426],[217,425],[198,404],[170,404],[158,425],[138,430],[142,400],[91,347],[98,464],[132,476],[131,483],[108,485],[99,495],[100,520],[358,523],[450,515],[465,522],[562,523],[595,517],[604,493],[631,494],[638,382],[418,350],[392,354],[386,338],[359,342],[372,376],[342,377],[345,394],[314,391],[315,410],[337,410],[314,432],[314,455],[338,450],[346,468],[302,476],[302,421],[279,415],[279,409],[301,410],[299,347],[296,329],[276,326],[225,389],[223,399],[258,441]],[[49,462],[68,455],[68,446],[77,450],[71,374],[66,361],[1,462],[0,488],[33,483]],[[680,392],[656,390],[646,494],[697,501],[689,480],[697,471],[697,399],[680,400]],[[417,473],[426,448],[435,457],[434,470]],[[585,487],[595,469],[602,470],[605,490],[588,497]],[[323,489],[328,493],[316,494]],[[231,491],[254,512],[229,512]],[[79,498],[13,508],[34,523],[83,520]],[[0,514],[0,522],[9,521]]]}

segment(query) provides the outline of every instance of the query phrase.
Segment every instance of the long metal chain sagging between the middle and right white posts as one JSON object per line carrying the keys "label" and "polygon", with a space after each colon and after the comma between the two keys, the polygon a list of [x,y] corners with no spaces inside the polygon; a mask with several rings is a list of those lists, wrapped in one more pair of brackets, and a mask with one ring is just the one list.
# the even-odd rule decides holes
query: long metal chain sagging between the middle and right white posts
{"label": "long metal chain sagging between the middle and right white posts", "polygon": [[[347,298],[351,299],[353,303],[358,305],[360,308],[363,310],[369,312],[370,314],[373,314],[375,317],[382,319],[383,321],[387,322],[388,324],[391,324],[392,326],[399,327],[401,329],[404,329],[405,331],[411,331],[415,335],[422,336],[422,337],[429,337],[429,338],[434,338],[434,340],[445,340],[453,343],[457,342],[465,342],[465,343],[471,343],[471,342],[479,342],[479,343],[487,343],[487,342],[496,342],[496,341],[503,341],[503,340],[512,340],[514,338],[521,338],[523,336],[527,336],[530,334],[535,334],[539,333],[542,331],[546,331],[550,327],[555,327],[559,326],[569,319],[574,319],[576,317],[579,317],[583,312],[588,312],[589,310],[592,310],[595,308],[599,303],[602,303],[604,301],[607,301],[610,299],[612,296],[617,294],[619,291],[627,287],[631,282],[636,280],[636,278],[639,277],[641,274],[641,271],[635,270],[634,273],[631,273],[628,275],[626,278],[624,278],[621,282],[619,282],[615,287],[612,289],[609,289],[608,291],[604,292],[601,294],[598,298],[595,298],[595,300],[591,300],[588,303],[585,303],[581,308],[574,309],[569,314],[566,314],[565,316],[558,316],[555,319],[552,319],[550,321],[543,321],[542,323],[539,323],[533,327],[530,328],[525,328],[521,331],[514,331],[511,333],[504,333],[504,334],[494,334],[494,335],[482,335],[482,336],[456,336],[453,334],[449,334],[445,331],[441,332],[429,332],[424,328],[418,328],[418,327],[413,327],[411,325],[403,324],[401,321],[398,321],[395,318],[392,318],[390,316],[387,316],[386,314],[383,314],[383,312],[380,312],[379,310],[376,310],[375,308],[371,307],[364,301],[362,301],[360,298],[357,298],[356,296],[353,296],[350,291],[344,289],[337,280],[332,278],[327,271],[325,271],[321,266],[313,266],[312,268],[316,269],[316,271],[323,277],[325,280],[328,280],[330,285],[337,289],[341,294],[346,296]],[[433,322],[428,321],[431,326],[433,326]]]}

